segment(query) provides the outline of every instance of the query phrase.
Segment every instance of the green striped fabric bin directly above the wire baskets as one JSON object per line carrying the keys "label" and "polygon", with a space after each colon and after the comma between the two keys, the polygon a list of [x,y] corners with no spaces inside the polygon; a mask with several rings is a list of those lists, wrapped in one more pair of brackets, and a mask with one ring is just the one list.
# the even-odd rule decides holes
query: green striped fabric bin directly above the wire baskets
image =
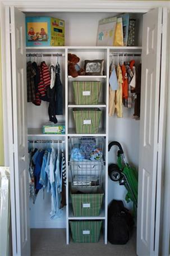
{"label": "green striped fabric bin directly above the wire baskets", "polygon": [[97,134],[102,111],[99,108],[73,108],[77,134]]}

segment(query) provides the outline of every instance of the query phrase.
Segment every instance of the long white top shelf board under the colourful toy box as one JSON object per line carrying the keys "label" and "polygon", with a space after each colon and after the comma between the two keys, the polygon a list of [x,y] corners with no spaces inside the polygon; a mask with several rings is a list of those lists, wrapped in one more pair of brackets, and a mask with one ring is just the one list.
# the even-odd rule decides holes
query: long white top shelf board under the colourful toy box
{"label": "long white top shelf board under the colourful toy box", "polygon": [[38,46],[26,47],[27,50],[31,49],[110,49],[110,50],[141,50],[141,46]]}

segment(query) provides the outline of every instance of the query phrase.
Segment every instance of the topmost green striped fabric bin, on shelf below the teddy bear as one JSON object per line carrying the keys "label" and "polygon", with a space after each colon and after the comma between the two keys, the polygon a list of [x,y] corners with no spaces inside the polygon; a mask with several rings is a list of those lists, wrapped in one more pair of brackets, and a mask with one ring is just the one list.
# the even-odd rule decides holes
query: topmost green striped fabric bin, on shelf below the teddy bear
{"label": "topmost green striped fabric bin, on shelf below the teddy bear", "polygon": [[95,105],[99,102],[100,81],[73,81],[73,94],[77,105]]}

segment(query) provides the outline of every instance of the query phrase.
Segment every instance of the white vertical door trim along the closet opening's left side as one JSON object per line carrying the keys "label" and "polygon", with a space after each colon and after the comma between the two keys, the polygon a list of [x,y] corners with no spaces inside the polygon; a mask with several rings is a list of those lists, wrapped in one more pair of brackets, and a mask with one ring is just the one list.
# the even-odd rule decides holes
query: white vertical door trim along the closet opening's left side
{"label": "white vertical door trim along the closet opening's left side", "polygon": [[[2,56],[2,94],[3,94],[3,134],[4,166],[10,167],[12,252],[16,255],[16,218],[15,218],[15,171],[13,163],[12,128],[12,87],[11,87],[11,46],[10,46],[10,8],[1,4],[1,56]],[[4,35],[2,37],[2,35]]]}

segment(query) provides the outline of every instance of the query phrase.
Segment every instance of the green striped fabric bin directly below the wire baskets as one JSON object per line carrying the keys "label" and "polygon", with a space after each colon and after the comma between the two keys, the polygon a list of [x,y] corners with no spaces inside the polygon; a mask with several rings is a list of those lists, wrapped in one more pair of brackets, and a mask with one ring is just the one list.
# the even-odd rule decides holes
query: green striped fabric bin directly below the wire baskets
{"label": "green striped fabric bin directly below the wire baskets", "polygon": [[[80,191],[80,190],[79,190]],[[76,193],[71,190],[71,200],[74,216],[99,216],[103,202],[103,190],[97,189],[94,193]]]}

